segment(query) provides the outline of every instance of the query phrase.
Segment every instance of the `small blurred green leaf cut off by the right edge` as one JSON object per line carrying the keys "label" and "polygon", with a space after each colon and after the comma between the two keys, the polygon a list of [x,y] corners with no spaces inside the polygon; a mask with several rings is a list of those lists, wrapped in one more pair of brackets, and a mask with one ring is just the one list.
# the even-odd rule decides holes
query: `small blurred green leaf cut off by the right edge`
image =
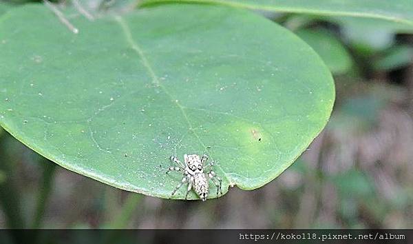
{"label": "small blurred green leaf cut off by the right edge", "polygon": [[394,70],[402,68],[413,61],[413,48],[409,45],[396,45],[387,50],[383,57],[373,63],[377,70]]}

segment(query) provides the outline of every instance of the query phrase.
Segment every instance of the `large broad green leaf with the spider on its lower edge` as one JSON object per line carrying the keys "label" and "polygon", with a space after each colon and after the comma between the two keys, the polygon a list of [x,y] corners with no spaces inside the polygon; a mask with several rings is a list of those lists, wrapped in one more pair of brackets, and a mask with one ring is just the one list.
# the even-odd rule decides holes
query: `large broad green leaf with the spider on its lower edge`
{"label": "large broad green leaf with the spider on its lower edge", "polygon": [[43,6],[0,20],[0,124],[103,183],[167,198],[182,178],[165,174],[169,156],[206,152],[224,192],[255,189],[330,116],[335,90],[323,61],[257,14],[167,5],[70,21],[78,34]]}

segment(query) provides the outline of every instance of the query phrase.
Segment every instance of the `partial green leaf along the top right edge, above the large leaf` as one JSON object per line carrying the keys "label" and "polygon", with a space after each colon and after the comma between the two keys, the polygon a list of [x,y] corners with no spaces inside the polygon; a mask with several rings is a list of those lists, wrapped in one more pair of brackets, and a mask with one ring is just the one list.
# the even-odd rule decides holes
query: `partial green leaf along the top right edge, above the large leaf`
{"label": "partial green leaf along the top right edge, above the large leaf", "polygon": [[220,3],[237,8],[303,14],[337,15],[385,19],[413,26],[413,4],[411,0],[143,0],[141,6],[153,3]]}

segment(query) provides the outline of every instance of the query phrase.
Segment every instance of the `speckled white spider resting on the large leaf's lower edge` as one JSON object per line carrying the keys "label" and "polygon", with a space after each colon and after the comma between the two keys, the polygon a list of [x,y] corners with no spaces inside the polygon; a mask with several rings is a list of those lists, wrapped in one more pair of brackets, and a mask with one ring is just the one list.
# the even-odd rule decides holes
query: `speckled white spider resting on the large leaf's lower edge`
{"label": "speckled white spider resting on the large leaf's lower edge", "polygon": [[[204,166],[204,163],[208,161],[207,154],[204,154],[202,157],[197,154],[184,154],[185,164],[179,161],[176,156],[171,156],[171,161],[176,163],[178,167],[169,167],[167,174],[171,171],[181,171],[184,175],[181,183],[175,187],[175,190],[173,190],[171,197],[182,185],[184,185],[184,183],[188,183],[185,199],[187,199],[189,192],[193,189],[200,199],[205,201],[207,200],[209,192],[209,179],[211,179],[213,184],[217,187],[217,196],[218,194],[221,194],[222,196],[222,180],[215,174],[215,172],[213,172],[213,170],[211,170],[214,161],[211,161],[208,165]],[[206,169],[207,171],[204,171]]]}

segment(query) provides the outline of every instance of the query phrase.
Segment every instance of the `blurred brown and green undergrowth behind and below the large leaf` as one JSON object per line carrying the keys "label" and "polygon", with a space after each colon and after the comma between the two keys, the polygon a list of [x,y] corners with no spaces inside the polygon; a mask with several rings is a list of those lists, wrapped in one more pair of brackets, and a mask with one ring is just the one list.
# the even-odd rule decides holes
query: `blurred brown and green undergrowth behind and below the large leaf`
{"label": "blurred brown and green undergrowth behind and below the large leaf", "polygon": [[[123,11],[136,4],[83,1],[101,3]],[[281,176],[206,202],[157,199],[65,170],[0,128],[0,227],[412,228],[413,28],[257,14],[311,45],[337,89],[330,122]]]}

